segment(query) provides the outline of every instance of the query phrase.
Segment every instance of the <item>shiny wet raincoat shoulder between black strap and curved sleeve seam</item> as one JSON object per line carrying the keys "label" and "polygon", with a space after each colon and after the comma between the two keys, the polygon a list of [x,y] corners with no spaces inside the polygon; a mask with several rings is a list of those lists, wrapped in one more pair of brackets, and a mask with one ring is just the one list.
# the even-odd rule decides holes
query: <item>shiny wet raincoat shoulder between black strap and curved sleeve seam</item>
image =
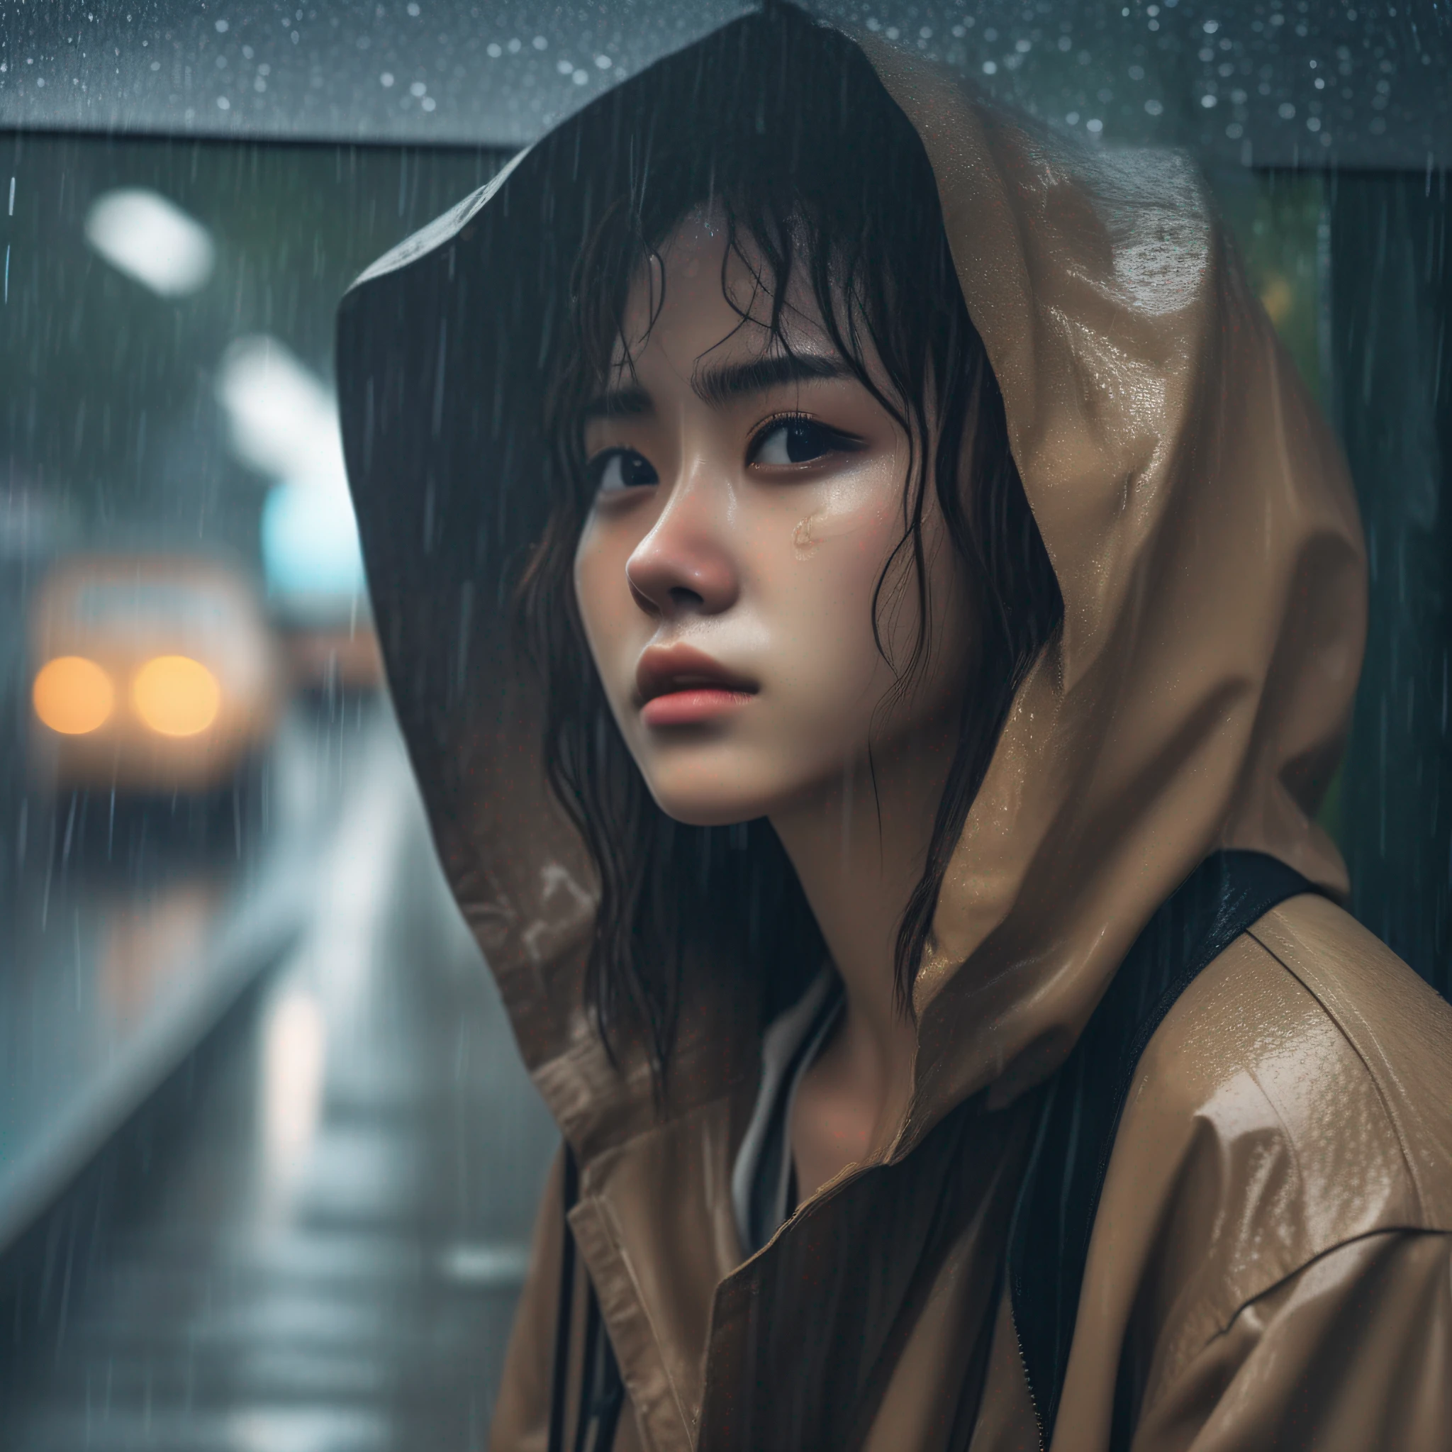
{"label": "shiny wet raincoat shoulder between black strap and curved sleeve seam", "polygon": [[1452,1230],[1452,1006],[1330,902],[1272,909],[1150,1040],[1106,1227],[1099,1270],[1180,1355],[1339,1246]]}

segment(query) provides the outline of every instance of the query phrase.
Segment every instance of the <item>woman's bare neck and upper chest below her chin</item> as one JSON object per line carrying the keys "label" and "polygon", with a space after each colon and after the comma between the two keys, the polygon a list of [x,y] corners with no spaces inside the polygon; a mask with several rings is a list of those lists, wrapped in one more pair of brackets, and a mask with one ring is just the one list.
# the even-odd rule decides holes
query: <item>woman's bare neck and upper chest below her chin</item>
{"label": "woman's bare neck and upper chest below her chin", "polygon": [[897,931],[922,876],[955,738],[948,725],[925,729],[771,817],[847,999],[793,1105],[803,1198],[884,1151],[908,1109],[918,1037],[896,992]]}

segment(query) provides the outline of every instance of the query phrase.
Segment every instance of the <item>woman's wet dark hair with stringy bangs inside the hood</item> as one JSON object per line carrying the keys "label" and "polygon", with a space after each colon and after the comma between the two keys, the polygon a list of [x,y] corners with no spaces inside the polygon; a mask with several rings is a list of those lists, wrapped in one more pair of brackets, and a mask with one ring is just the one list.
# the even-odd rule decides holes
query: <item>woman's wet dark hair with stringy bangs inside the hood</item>
{"label": "woman's wet dark hair with stringy bangs inside the hood", "polygon": [[[825,957],[765,820],[693,828],[655,804],[610,713],[575,598],[574,555],[591,507],[582,409],[620,357],[626,299],[642,263],[693,209],[714,208],[727,256],[755,269],[771,299],[774,344],[790,351],[784,301],[790,286],[809,287],[835,348],[912,441],[903,534],[873,601],[883,649],[877,627],[893,605],[887,581],[910,559],[921,626],[910,658],[890,662],[897,690],[910,688],[932,648],[922,539],[929,486],[968,585],[977,650],[957,752],[897,934],[905,1012],[950,857],[1013,691],[1063,617],[916,132],[861,51],[836,32],[768,19],[736,60],[732,96],[697,97],[694,115],[710,116],[709,129],[697,122],[682,135],[680,115],[646,112],[635,134],[616,142],[632,148],[632,164],[619,195],[603,199],[574,269],[569,343],[546,408],[550,515],[518,592],[546,691],[549,780],[600,874],[590,1008],[607,1044],[621,1029],[643,1031],[658,1074],[669,1061],[693,954],[725,950],[761,995],[764,1016],[794,999]],[[706,77],[703,91],[710,84]],[[886,388],[868,375],[873,354]]]}

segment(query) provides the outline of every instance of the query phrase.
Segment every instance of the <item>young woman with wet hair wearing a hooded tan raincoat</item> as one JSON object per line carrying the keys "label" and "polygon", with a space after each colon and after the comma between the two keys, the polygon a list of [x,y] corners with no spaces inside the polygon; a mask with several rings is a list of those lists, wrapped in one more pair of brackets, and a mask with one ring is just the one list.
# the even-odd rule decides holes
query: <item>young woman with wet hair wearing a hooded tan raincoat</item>
{"label": "young woman with wet hair wearing a hooded tan raincoat", "polygon": [[1452,1442],[1452,1013],[1314,819],[1355,505],[1182,161],[772,9],[338,378],[565,1137],[497,1448]]}

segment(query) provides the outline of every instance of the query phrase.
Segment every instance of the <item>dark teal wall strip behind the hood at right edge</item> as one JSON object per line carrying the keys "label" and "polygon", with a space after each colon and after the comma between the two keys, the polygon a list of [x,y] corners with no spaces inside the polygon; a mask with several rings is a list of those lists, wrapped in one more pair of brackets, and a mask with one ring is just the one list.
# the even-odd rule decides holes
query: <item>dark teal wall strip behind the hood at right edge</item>
{"label": "dark teal wall strip behind the hood at right edge", "polygon": [[1342,781],[1358,918],[1452,989],[1452,267],[1446,173],[1333,174],[1334,414],[1371,556],[1371,633]]}

